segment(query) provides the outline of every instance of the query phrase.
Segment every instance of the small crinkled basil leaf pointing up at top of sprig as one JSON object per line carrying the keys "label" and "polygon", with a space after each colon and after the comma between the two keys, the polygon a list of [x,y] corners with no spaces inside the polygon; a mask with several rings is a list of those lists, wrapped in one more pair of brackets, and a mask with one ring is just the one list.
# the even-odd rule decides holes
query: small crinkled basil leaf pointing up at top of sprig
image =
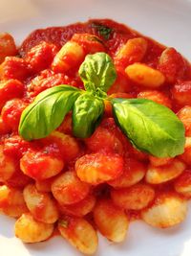
{"label": "small crinkled basil leaf pointing up at top of sprig", "polygon": [[87,91],[107,92],[117,78],[116,68],[109,55],[96,53],[86,56],[79,68],[79,76]]}

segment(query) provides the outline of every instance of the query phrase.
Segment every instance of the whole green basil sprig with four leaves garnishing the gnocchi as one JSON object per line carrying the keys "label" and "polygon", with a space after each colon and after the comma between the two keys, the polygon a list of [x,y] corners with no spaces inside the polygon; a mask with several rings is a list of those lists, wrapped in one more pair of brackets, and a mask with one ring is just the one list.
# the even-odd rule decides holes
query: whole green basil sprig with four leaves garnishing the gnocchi
{"label": "whole green basil sprig with four leaves garnishing the gnocchi", "polygon": [[184,128],[173,111],[146,99],[111,99],[106,92],[117,77],[112,59],[105,53],[85,58],[79,68],[85,90],[58,85],[38,94],[22,113],[19,134],[25,140],[48,136],[65,115],[73,111],[73,133],[90,137],[110,101],[117,126],[139,151],[158,157],[174,157],[183,152]]}

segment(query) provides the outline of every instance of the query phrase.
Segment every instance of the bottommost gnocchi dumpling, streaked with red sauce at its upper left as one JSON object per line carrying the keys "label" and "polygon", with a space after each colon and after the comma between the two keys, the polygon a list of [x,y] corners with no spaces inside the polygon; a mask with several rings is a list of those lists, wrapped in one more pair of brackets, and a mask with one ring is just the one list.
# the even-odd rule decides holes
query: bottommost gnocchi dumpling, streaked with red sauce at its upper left
{"label": "bottommost gnocchi dumpling, streaked with red sauce at its upper left", "polygon": [[58,222],[58,230],[63,238],[84,254],[92,255],[97,248],[97,235],[94,227],[86,220],[65,217]]}

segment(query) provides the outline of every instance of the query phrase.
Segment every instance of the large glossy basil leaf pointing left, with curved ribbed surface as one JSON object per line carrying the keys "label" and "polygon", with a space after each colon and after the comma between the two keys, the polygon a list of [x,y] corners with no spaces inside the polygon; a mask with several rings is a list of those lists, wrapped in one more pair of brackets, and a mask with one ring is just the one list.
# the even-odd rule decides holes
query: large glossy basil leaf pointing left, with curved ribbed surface
{"label": "large glossy basil leaf pointing left, with curved ribbed surface", "polygon": [[48,136],[60,126],[79,95],[80,90],[70,85],[59,85],[41,92],[23,111],[19,134],[28,141]]}

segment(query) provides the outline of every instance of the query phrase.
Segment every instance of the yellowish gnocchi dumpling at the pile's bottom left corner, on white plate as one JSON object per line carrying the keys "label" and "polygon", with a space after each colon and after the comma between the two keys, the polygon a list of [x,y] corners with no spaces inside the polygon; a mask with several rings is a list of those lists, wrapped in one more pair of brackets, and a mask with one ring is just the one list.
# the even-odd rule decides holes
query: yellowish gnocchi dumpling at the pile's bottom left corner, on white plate
{"label": "yellowish gnocchi dumpling at the pile's bottom left corner, on white plate", "polygon": [[14,233],[24,243],[37,243],[51,237],[53,224],[35,221],[30,213],[23,214],[15,222]]}

